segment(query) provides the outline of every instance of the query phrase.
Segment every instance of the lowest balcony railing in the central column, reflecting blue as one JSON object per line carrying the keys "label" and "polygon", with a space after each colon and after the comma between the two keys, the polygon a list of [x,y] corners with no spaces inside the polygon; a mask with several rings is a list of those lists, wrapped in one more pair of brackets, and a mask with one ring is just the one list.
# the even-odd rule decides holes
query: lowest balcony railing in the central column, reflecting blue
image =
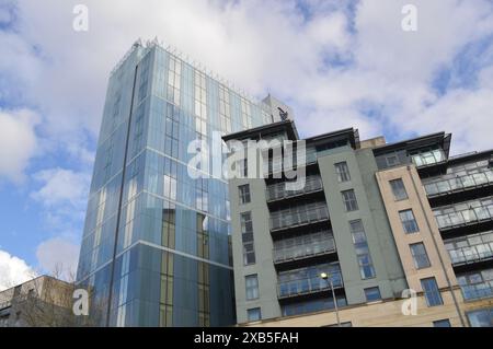
{"label": "lowest balcony railing in the central column, reflecting blue", "polygon": [[[343,288],[343,282],[340,272],[331,274],[332,284],[334,289]],[[278,298],[285,299],[290,296],[317,293],[330,290],[331,286],[328,280],[319,277],[311,279],[297,279],[285,282],[279,282],[277,286]]]}

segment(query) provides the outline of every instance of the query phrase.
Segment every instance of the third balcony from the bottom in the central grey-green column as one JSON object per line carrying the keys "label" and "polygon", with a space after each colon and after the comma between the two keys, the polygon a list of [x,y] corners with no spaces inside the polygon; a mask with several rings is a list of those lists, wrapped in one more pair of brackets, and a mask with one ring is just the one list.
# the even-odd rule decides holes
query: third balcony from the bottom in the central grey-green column
{"label": "third balcony from the bottom in the central grey-green column", "polygon": [[271,232],[305,226],[329,220],[326,205],[312,202],[271,213]]}

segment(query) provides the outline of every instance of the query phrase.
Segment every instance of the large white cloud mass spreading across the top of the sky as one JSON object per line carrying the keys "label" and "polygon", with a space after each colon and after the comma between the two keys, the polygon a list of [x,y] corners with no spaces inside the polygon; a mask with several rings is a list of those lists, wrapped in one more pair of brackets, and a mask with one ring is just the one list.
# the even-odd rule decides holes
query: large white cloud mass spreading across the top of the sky
{"label": "large white cloud mass spreading across the top of the sky", "polygon": [[[450,116],[432,110],[454,92],[438,95],[431,83],[438,69],[457,63],[455,56],[468,43],[493,33],[493,5],[486,0],[415,0],[419,31],[405,33],[401,9],[408,2],[364,0],[349,11],[341,1],[310,0],[305,16],[297,1],[149,0],[144,5],[122,0],[115,5],[88,0],[90,31],[78,33],[72,30],[77,1],[21,0],[19,34],[0,37],[7,53],[0,71],[15,72],[8,74],[16,82],[10,85],[43,110],[44,135],[66,150],[73,144],[87,149],[79,135],[98,133],[111,68],[136,38],[156,36],[259,97],[272,92],[288,101],[305,135],[349,123],[362,129],[362,137],[389,128],[395,137],[437,131],[419,116],[433,117],[429,125],[440,129],[451,125],[442,123]],[[326,58],[349,63],[326,67]],[[482,68],[488,66],[493,62]],[[482,75],[491,81],[491,72]],[[491,82],[483,89],[491,90]],[[365,106],[380,115],[368,115]],[[466,117],[461,110],[454,114],[456,120]],[[422,124],[410,129],[410,119]],[[493,118],[485,119],[489,127],[480,133],[469,126],[444,130],[456,132],[455,139],[470,138],[473,149],[493,147],[493,140],[475,141],[490,139]],[[92,153],[78,156],[88,160]]]}

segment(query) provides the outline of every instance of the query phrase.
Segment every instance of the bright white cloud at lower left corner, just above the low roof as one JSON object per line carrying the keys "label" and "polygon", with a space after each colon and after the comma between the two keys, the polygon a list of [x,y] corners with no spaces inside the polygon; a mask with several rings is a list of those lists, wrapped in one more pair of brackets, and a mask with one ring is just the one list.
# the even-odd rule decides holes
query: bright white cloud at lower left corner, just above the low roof
{"label": "bright white cloud at lower left corner, just above the low roof", "polygon": [[0,291],[33,279],[36,272],[21,258],[0,249]]}

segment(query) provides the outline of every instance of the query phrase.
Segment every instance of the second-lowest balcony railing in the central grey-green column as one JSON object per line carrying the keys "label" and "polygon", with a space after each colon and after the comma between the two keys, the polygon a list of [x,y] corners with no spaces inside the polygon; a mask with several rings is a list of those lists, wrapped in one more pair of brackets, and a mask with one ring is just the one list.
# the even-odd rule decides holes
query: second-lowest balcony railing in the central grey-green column
{"label": "second-lowest balcony railing in the central grey-green column", "polygon": [[335,252],[334,239],[324,239],[311,244],[274,248],[274,263],[299,260]]}

